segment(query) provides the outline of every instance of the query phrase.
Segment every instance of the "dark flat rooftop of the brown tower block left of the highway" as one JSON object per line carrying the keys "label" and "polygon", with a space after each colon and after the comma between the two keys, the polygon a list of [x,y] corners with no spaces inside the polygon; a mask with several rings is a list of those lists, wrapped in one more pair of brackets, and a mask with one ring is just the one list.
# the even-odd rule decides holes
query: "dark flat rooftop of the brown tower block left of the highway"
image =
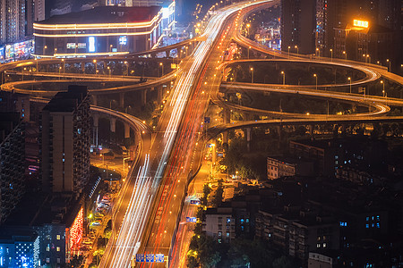
{"label": "dark flat rooftop of the brown tower block left of the highway", "polygon": [[67,92],[58,92],[43,108],[49,112],[73,112],[88,96],[86,86],[70,85]]}

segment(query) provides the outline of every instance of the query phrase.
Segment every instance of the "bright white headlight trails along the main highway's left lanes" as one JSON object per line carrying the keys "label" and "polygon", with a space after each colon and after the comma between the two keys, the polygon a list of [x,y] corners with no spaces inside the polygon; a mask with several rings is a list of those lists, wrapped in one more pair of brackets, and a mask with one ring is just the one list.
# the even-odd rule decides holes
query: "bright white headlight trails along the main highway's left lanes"
{"label": "bright white headlight trails along the main highway's left lanes", "polygon": [[[265,1],[256,1],[253,4],[258,4]],[[169,121],[167,123],[167,129],[162,137],[164,142],[163,152],[160,155],[156,155],[159,158],[159,164],[156,172],[152,174],[148,168],[149,159],[146,159],[145,164],[141,168],[141,171],[136,179],[136,187],[133,189],[133,195],[124,215],[124,221],[119,231],[119,235],[114,244],[115,252],[113,252],[113,259],[108,267],[114,268],[126,268],[130,265],[132,256],[137,253],[139,242],[144,233],[145,221],[149,219],[151,213],[151,202],[154,200],[159,188],[160,180],[162,179],[163,172],[167,164],[168,157],[174,146],[176,133],[178,131],[180,122],[184,115],[184,109],[191,95],[193,84],[197,78],[198,71],[201,69],[202,63],[205,61],[207,54],[212,48],[212,44],[219,35],[221,25],[227,19],[227,17],[241,9],[244,5],[235,5],[228,8],[223,13],[219,13],[217,16],[211,18],[210,23],[206,29],[206,32],[210,33],[208,37],[196,46],[193,54],[189,58],[191,67],[189,71],[184,71],[180,76],[179,81],[176,84],[176,89],[171,98],[169,108],[172,110],[169,115]],[[193,137],[194,138],[194,137]],[[191,138],[191,140],[194,140]],[[180,168],[176,167],[176,174],[180,172]],[[147,179],[146,179],[147,178]],[[150,179],[152,178],[152,180]],[[168,203],[172,197],[172,190],[176,186],[176,180],[171,187],[168,197]],[[161,200],[159,200],[161,202]],[[167,209],[167,208],[166,208]],[[135,210],[133,212],[133,210]],[[141,218],[141,220],[139,219]],[[160,224],[159,229],[163,228],[164,224]],[[99,267],[106,267],[107,261],[102,259],[103,262]]]}

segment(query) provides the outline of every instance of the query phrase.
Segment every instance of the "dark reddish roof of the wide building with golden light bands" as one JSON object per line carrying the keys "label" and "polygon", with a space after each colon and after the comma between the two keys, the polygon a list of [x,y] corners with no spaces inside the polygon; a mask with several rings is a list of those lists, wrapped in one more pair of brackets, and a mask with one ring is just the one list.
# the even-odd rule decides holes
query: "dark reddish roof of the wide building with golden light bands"
{"label": "dark reddish roof of the wide building with golden light bands", "polygon": [[78,13],[55,15],[39,24],[133,23],[151,21],[161,10],[159,6],[97,6]]}

